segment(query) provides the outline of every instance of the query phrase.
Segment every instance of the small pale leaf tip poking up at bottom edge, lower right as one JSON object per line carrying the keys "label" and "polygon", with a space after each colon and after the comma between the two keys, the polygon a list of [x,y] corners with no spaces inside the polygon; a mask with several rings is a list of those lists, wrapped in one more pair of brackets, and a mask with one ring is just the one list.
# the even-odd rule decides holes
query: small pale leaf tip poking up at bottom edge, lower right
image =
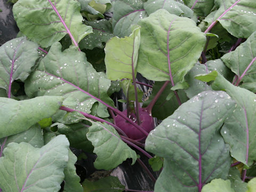
{"label": "small pale leaf tip poking up at bottom edge, lower right", "polygon": [[203,187],[202,192],[235,192],[229,180],[214,179]]}

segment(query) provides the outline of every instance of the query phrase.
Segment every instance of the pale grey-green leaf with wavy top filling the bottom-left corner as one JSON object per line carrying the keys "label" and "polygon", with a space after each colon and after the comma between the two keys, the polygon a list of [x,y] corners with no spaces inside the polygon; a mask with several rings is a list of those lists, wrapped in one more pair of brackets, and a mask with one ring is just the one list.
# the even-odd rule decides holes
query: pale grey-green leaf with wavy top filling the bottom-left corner
{"label": "pale grey-green leaf with wavy top filling the bottom-left corner", "polygon": [[10,143],[0,158],[0,188],[11,191],[59,191],[68,162],[69,143],[59,135],[42,148]]}

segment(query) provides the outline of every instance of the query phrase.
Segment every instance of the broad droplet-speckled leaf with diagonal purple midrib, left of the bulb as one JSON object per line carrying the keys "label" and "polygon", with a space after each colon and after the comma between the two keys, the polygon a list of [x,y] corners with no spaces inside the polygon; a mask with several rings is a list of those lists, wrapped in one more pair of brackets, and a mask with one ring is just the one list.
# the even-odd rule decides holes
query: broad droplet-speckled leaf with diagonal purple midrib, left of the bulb
{"label": "broad droplet-speckled leaf with diagonal purple midrib, left of the bulb", "polygon": [[[109,86],[110,80],[95,71],[83,52],[73,47],[61,52],[61,44],[55,43],[25,82],[25,91],[29,97],[63,95],[63,105],[90,113],[97,100],[87,93],[113,105],[107,95]],[[99,103],[98,115],[108,116],[107,107],[102,103]]]}

